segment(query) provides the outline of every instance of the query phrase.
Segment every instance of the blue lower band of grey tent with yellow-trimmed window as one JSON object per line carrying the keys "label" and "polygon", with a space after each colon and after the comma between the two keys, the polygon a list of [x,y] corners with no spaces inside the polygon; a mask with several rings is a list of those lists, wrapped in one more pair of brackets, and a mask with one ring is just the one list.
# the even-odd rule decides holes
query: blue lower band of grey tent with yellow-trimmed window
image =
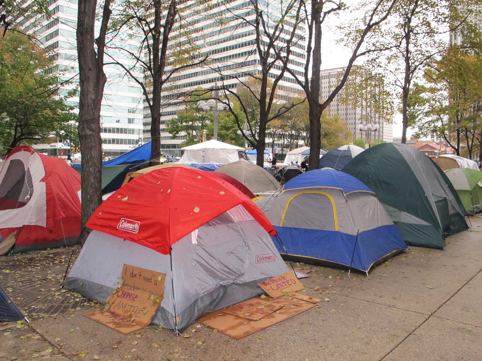
{"label": "blue lower band of grey tent with yellow-trimmed window", "polygon": [[[395,225],[362,232],[358,240],[356,235],[337,231],[279,226],[275,229],[290,256],[351,265],[361,271],[368,271],[377,260],[406,248]],[[274,244],[280,253],[285,253],[279,241],[275,239]]]}

